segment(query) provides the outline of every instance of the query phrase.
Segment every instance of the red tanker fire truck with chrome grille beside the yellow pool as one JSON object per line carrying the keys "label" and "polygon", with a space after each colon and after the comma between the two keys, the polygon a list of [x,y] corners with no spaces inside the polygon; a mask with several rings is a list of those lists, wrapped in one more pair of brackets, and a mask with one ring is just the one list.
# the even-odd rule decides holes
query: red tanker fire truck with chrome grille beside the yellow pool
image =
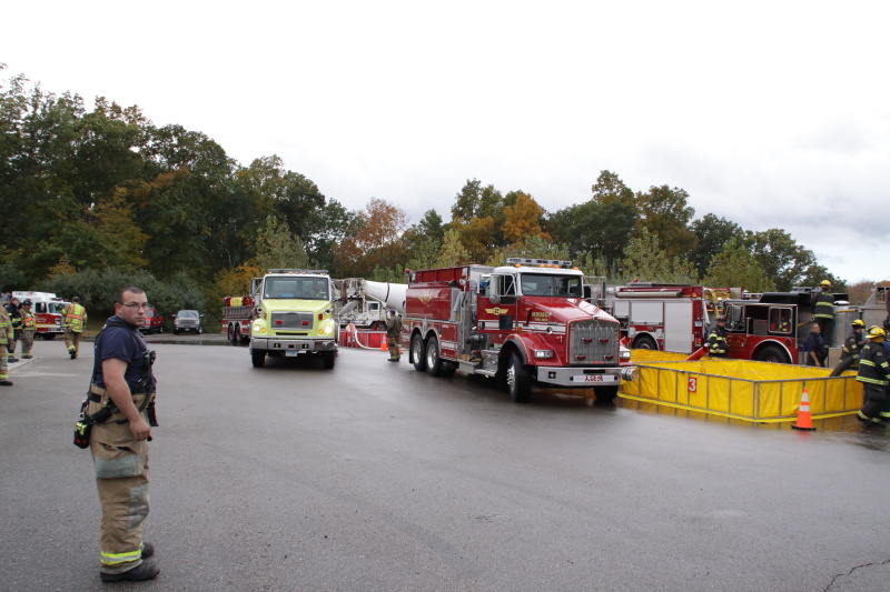
{"label": "red tanker fire truck with chrome grille beside the yellow pool", "polygon": [[614,399],[634,368],[617,321],[583,299],[582,272],[570,261],[507,263],[409,272],[402,344],[414,368],[503,380],[516,402],[532,384]]}

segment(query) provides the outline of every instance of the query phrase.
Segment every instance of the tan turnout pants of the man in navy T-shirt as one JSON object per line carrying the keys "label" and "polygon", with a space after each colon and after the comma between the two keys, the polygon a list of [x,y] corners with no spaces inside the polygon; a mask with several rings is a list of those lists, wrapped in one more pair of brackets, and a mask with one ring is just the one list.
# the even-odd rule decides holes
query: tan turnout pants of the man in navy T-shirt
{"label": "tan turnout pants of the man in navy T-shirt", "polygon": [[[102,398],[102,402],[105,399]],[[134,395],[139,407],[144,394]],[[102,405],[90,402],[88,412]],[[148,442],[136,442],[128,422],[115,413],[97,423],[90,434],[90,451],[96,468],[96,486],[102,504],[100,570],[122,573],[142,563],[142,521],[148,515]],[[142,419],[148,421],[146,412]]]}

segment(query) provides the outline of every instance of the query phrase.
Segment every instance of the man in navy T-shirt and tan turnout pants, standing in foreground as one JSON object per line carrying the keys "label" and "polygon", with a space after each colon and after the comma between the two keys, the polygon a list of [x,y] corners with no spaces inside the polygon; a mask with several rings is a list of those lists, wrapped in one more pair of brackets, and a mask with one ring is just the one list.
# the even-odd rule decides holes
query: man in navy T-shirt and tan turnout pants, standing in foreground
{"label": "man in navy T-shirt and tan turnout pants, standing in foreground", "polygon": [[[96,486],[102,504],[99,576],[103,582],[151,580],[160,570],[144,559],[148,515],[148,440],[154,421],[154,352],[139,334],[148,304],[136,287],[118,293],[115,315],[96,338],[88,413]],[[107,415],[105,421],[98,421]]]}

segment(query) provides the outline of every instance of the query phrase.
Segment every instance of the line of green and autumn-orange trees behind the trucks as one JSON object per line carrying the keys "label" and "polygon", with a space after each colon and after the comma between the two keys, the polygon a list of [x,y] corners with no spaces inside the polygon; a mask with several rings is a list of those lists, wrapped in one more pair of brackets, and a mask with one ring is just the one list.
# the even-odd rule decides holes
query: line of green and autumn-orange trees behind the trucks
{"label": "line of green and autumn-orange trees behind the trucks", "polygon": [[89,110],[78,94],[23,74],[0,86],[3,291],[80,292],[101,307],[106,282],[130,278],[155,285],[169,309],[214,312],[271,267],[405,281],[406,268],[506,257],[572,259],[614,283],[752,292],[842,283],[781,229],[696,219],[684,190],[634,191],[611,171],[589,198],[555,212],[522,190],[471,179],[447,213],[445,221],[428,210],[408,225],[404,210],[379,198],[350,211],[277,155],[243,165],[205,133],[157,127],[136,106],[97,98]]}

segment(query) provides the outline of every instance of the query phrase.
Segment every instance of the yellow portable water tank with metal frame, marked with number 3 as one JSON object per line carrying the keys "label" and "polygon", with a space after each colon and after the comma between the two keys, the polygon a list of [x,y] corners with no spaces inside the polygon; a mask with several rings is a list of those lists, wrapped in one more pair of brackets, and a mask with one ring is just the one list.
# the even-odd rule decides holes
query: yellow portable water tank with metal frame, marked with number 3
{"label": "yellow portable water tank with metal frame, marked with number 3", "polygon": [[637,379],[623,383],[622,395],[641,401],[761,422],[797,419],[804,388],[813,417],[862,407],[862,387],[853,372],[831,378],[828,369],[745,360],[635,363]]}

